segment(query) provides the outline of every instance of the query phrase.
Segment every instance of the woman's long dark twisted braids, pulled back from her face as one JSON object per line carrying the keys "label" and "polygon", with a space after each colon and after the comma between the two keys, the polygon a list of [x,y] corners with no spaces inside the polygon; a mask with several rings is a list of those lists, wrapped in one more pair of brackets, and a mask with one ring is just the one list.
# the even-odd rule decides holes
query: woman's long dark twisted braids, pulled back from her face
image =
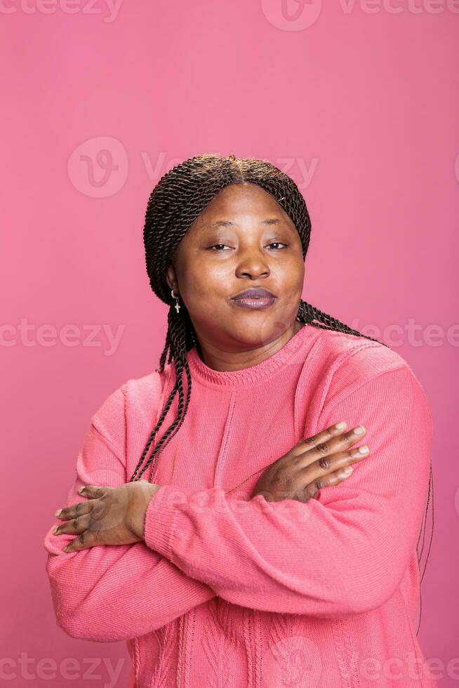
{"label": "woman's long dark twisted braids, pulled back from her face", "polygon": [[[300,235],[302,258],[305,260],[311,232],[310,216],[307,212],[305,199],[293,179],[269,161],[255,158],[236,158],[234,154],[230,154],[228,157],[221,157],[217,154],[200,154],[176,165],[161,177],[149,196],[143,239],[150,286],[161,301],[170,305],[166,343],[157,372],[162,373],[164,371],[168,356],[168,364],[173,360],[175,367],[175,384],[161,412],[159,421],[148,438],[130,482],[140,479],[149,466],[151,466],[149,472],[151,479],[154,465],[158,461],[161,450],[180,429],[187,413],[192,386],[187,352],[193,347],[199,349],[197,335],[185,304],[180,307],[180,312],[174,312],[174,299],[166,282],[167,268],[173,263],[175,251],[185,233],[194,220],[206,209],[213,197],[227,185],[243,183],[257,184],[277,200],[293,221]],[[300,300],[297,319],[303,324],[364,337],[387,346],[383,342],[379,342],[378,339],[354,330],[337,318],[327,315],[307,301]],[[186,397],[183,391],[183,373],[187,376]],[[154,446],[154,451],[141,468],[149,447],[164,422],[177,393],[178,414],[163,437]]]}

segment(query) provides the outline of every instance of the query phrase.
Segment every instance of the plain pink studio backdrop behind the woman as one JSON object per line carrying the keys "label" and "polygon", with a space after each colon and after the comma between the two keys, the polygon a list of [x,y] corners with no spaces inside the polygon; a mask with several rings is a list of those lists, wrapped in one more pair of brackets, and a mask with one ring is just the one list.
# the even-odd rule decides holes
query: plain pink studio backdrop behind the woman
{"label": "plain pink studio backdrop behind the woman", "polygon": [[0,680],[126,684],[124,643],[57,628],[44,534],[91,415],[164,345],[149,192],[182,159],[234,152],[270,159],[305,196],[303,298],[373,326],[430,399],[419,639],[439,685],[457,685],[458,2],[4,0],[0,14]]}

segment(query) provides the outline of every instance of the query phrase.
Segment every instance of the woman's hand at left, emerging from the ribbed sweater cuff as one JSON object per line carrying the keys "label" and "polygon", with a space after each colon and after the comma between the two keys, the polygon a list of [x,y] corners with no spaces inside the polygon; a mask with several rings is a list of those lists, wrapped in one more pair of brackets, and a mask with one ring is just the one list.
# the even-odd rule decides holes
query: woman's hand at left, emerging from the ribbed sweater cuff
{"label": "woman's hand at left, emerging from the ribbed sweater cuff", "polygon": [[76,552],[94,545],[130,545],[144,539],[147,507],[161,485],[146,480],[127,482],[119,487],[86,485],[79,493],[88,501],[55,512],[65,523],[55,535],[78,535],[64,548]]}

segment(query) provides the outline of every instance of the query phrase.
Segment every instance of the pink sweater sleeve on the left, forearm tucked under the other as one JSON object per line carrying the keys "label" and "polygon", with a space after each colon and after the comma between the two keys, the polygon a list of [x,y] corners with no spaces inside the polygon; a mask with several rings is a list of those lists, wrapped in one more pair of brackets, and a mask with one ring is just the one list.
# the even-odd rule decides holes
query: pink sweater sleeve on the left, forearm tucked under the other
{"label": "pink sweater sleeve on the left, forearm tucked under the other", "polygon": [[[76,459],[76,479],[67,502],[56,508],[86,501],[78,493],[82,485],[118,487],[127,482],[121,428],[122,387],[91,418]],[[189,578],[145,542],[62,552],[75,536],[53,535],[60,523],[56,519],[44,539],[46,572],[58,626],[72,637],[100,642],[138,637],[215,596],[205,583]]]}

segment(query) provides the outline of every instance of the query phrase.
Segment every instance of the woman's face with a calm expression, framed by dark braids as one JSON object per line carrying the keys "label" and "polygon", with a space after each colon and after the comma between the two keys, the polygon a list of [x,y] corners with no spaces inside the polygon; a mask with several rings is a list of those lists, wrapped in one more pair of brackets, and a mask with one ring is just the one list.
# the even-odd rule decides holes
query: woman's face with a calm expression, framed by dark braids
{"label": "woman's face with a calm expression, framed by dark braids", "polygon": [[[224,187],[189,227],[167,281],[203,349],[241,352],[293,330],[304,273],[292,220],[271,194],[244,183]],[[255,287],[272,292],[274,302],[258,310],[237,305],[233,297]]]}

